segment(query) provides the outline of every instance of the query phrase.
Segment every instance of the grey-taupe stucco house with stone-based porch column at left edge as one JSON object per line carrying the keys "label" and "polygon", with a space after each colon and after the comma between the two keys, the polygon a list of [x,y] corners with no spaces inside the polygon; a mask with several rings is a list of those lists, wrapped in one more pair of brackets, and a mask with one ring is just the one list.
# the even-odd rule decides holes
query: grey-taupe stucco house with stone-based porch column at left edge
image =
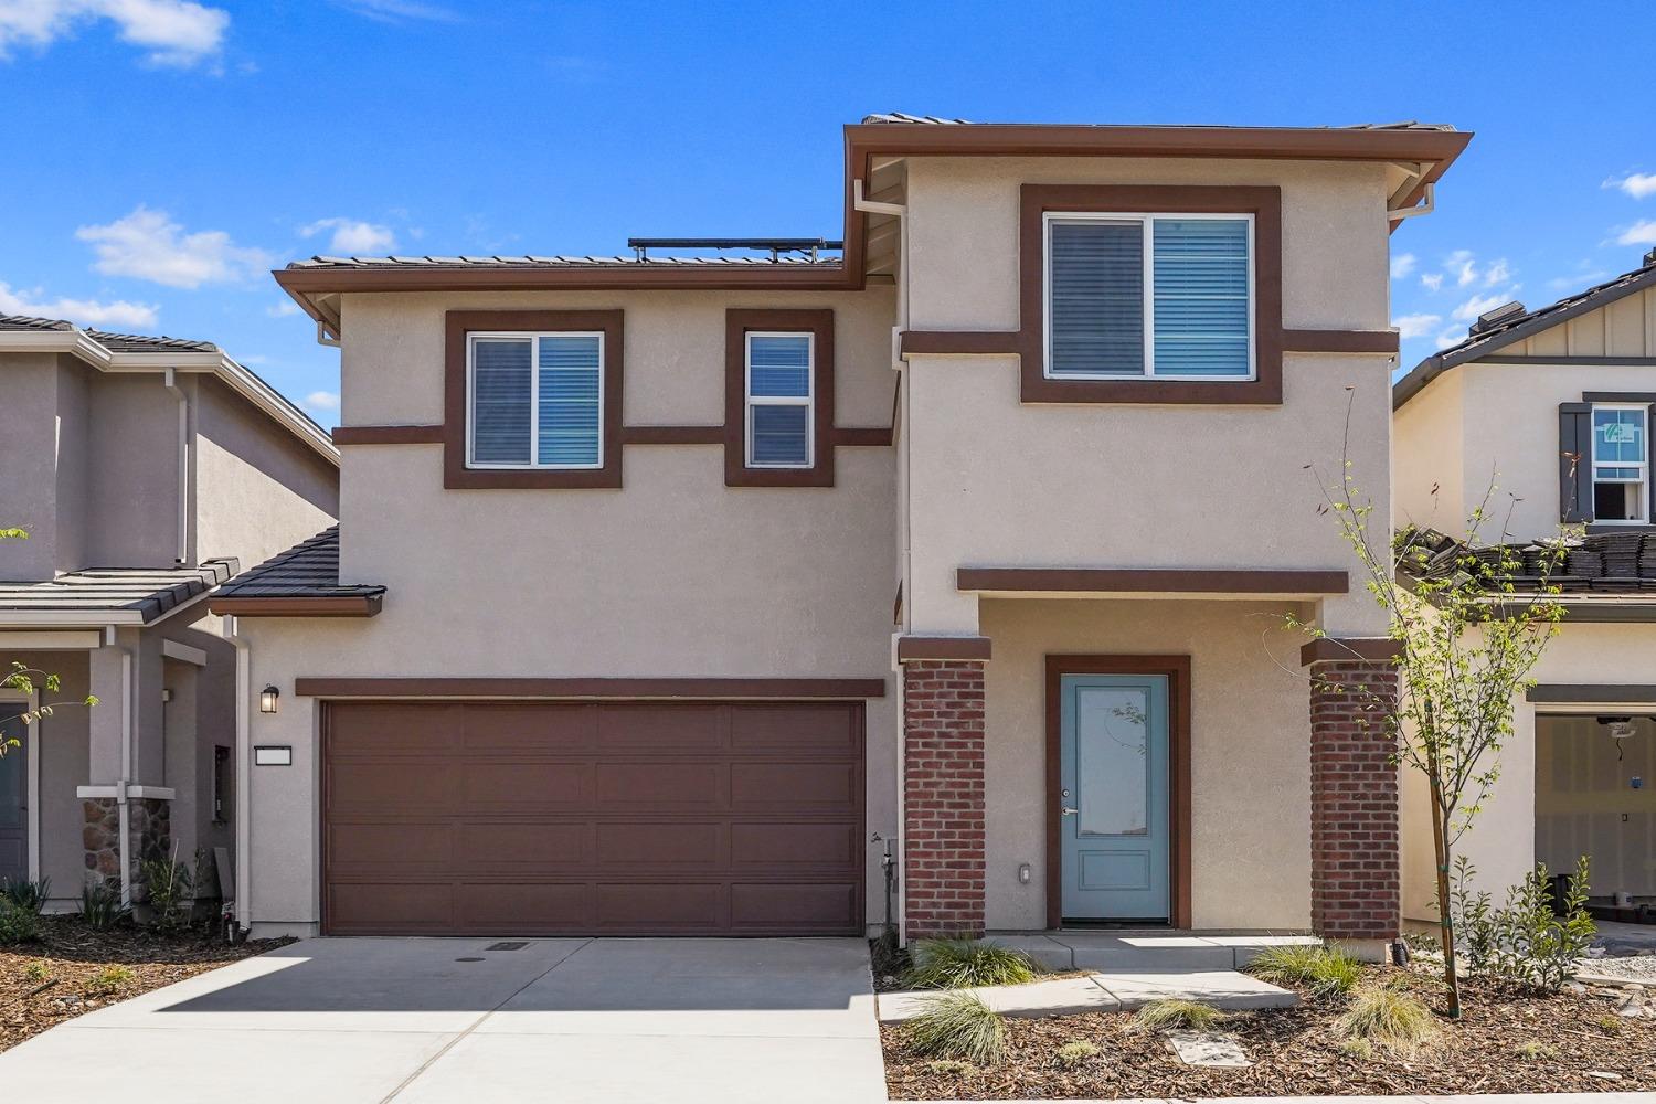
{"label": "grey-taupe stucco house with stone-based porch column at left edge", "polygon": [[[0,877],[134,887],[232,847],[235,647],[207,598],[338,511],[338,450],[215,346],[0,316],[0,675],[56,674],[23,728],[0,689]],[[123,862],[126,859],[126,862]],[[200,887],[212,895],[214,886]],[[229,897],[229,889],[225,890]]]}

